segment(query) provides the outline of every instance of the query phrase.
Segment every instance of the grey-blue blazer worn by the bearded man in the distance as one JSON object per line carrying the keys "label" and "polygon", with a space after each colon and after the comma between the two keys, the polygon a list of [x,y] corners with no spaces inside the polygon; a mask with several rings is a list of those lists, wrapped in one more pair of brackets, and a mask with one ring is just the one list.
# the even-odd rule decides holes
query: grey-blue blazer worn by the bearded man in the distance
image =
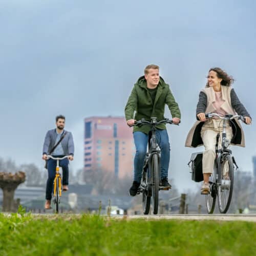
{"label": "grey-blue blazer worn by the bearded man in the distance", "polygon": [[[61,146],[63,148],[64,154],[67,155],[74,155],[74,141],[71,132],[67,132],[65,137],[61,140]],[[57,138],[56,129],[49,130],[46,134],[44,147],[42,148],[42,154],[49,154],[50,150],[54,147]]]}

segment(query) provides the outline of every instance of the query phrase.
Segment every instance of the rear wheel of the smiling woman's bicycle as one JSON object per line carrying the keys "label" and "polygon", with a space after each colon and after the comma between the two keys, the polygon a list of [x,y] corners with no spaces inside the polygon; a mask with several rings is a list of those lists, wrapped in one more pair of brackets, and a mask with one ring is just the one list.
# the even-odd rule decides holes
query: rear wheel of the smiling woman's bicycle
{"label": "rear wheel of the smiling woman's bicycle", "polygon": [[213,214],[217,198],[217,188],[216,188],[216,167],[214,165],[214,170],[212,175],[209,177],[210,183],[210,193],[206,195],[206,209],[208,214]]}

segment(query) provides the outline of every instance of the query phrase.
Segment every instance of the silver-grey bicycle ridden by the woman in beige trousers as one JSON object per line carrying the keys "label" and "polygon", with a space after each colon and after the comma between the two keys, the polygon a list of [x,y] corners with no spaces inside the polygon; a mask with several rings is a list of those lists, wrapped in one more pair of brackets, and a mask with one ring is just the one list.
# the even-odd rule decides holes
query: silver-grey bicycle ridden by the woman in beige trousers
{"label": "silver-grey bicycle ridden by the woman in beige trousers", "polygon": [[206,195],[206,208],[208,214],[212,214],[218,197],[219,210],[221,214],[225,214],[228,211],[232,199],[234,166],[238,169],[238,165],[232,156],[232,151],[228,149],[230,141],[226,138],[226,123],[234,118],[238,118],[244,122],[245,119],[240,115],[225,115],[223,117],[216,113],[206,114],[205,117],[219,117],[223,119],[221,148],[218,147],[220,138],[220,133],[218,133],[214,169],[212,175],[209,177],[210,193]]}

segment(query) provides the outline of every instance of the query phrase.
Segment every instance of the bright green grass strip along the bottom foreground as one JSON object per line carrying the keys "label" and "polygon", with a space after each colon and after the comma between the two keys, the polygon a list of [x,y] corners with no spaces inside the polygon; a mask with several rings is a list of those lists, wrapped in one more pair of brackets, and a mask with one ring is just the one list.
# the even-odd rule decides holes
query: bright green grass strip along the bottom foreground
{"label": "bright green grass strip along the bottom foreground", "polygon": [[256,255],[256,223],[0,214],[0,255]]}

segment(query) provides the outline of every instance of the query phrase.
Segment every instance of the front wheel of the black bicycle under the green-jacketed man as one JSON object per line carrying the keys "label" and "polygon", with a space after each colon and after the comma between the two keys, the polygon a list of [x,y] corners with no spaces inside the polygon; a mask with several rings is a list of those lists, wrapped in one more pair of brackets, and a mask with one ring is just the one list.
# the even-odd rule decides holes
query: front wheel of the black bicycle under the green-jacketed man
{"label": "front wheel of the black bicycle under the green-jacketed man", "polygon": [[151,177],[152,177],[152,206],[153,213],[158,212],[158,196],[159,196],[159,160],[158,155],[154,154],[151,159]]}

